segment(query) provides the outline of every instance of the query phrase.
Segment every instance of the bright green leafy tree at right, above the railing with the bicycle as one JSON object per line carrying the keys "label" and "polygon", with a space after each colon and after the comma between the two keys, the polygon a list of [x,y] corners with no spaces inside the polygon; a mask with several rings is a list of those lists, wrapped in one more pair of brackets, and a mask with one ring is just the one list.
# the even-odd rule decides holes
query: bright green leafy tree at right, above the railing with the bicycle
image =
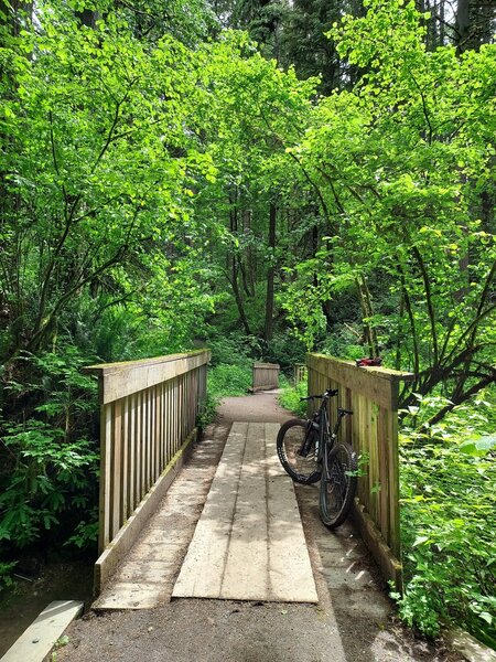
{"label": "bright green leafy tree at right, above the railing with the bicycle", "polygon": [[494,227],[478,199],[494,201],[495,49],[430,53],[420,18],[413,3],[373,2],[344,19],[339,52],[369,73],[323,100],[293,152],[334,218],[316,256],[321,298],[387,282],[396,312],[363,305],[364,324],[416,372],[414,392],[442,385],[452,404],[441,416],[495,380]]}

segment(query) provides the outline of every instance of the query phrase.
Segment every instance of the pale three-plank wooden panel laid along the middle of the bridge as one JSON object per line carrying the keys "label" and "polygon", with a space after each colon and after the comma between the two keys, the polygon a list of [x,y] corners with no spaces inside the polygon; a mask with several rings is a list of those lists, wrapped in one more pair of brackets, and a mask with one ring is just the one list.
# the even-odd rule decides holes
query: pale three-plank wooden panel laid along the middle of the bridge
{"label": "pale three-plank wooden panel laid along the middle of the bridge", "polygon": [[278,429],[233,424],[173,598],[317,602]]}

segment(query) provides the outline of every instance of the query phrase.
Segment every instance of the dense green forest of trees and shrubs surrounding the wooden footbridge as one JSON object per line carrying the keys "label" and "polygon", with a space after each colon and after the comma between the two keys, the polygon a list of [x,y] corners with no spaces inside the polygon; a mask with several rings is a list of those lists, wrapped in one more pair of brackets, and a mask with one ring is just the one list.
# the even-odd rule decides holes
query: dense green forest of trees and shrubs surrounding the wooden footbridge
{"label": "dense green forest of trees and shrubs surrounding the wooden footbridge", "polygon": [[82,366],[208,346],[206,421],[254,360],[380,355],[416,375],[400,617],[496,647],[495,32],[492,0],[0,0],[3,590],[95,554]]}

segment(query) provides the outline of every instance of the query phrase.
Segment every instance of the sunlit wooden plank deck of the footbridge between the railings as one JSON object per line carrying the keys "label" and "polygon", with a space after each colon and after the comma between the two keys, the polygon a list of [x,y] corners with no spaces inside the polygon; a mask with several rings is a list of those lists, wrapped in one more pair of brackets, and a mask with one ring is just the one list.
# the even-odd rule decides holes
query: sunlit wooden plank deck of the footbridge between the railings
{"label": "sunlit wooden plank deck of the footbridge between the railings", "polygon": [[218,448],[201,444],[94,608],[148,609],[171,596],[317,602],[278,429],[234,423],[216,469]]}

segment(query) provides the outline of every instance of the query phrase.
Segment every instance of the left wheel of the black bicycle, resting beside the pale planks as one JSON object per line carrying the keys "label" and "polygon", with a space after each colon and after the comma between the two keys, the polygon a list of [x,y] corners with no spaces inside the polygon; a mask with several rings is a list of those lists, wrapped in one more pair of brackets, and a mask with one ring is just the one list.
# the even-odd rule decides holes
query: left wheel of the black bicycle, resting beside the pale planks
{"label": "left wheel of the black bicycle, resting beside the pale planks", "polygon": [[310,430],[314,438],[310,440],[310,452],[306,457],[298,453],[305,440],[308,421],[300,418],[287,420],[278,433],[276,448],[279,460],[284,471],[299,483],[315,483],[321,478],[321,471],[315,460],[315,442],[317,441],[317,431]]}

